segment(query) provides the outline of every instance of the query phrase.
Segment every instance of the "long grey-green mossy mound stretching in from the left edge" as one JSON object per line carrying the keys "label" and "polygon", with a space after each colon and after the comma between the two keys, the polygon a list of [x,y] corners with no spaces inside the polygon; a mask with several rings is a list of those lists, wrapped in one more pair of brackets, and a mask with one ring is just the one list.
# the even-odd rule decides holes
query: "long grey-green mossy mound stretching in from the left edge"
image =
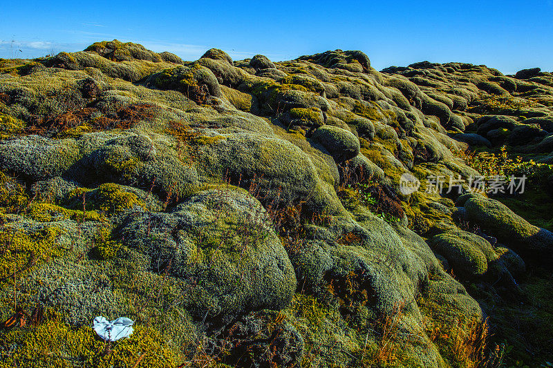
{"label": "long grey-green mossy mound stretching in from the left edge", "polygon": [[29,135],[0,142],[0,168],[22,178],[64,177],[88,186],[142,183],[163,197],[183,197],[198,187],[195,168],[183,166],[167,144],[146,135],[89,133],[79,139]]}

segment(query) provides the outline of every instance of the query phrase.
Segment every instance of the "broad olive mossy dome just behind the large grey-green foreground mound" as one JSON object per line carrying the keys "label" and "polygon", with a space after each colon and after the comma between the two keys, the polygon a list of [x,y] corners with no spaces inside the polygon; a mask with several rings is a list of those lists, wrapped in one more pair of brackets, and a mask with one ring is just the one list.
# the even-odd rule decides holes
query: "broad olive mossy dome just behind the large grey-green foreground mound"
{"label": "broad olive mossy dome just behind the large grey-green foreground mound", "polygon": [[303,199],[315,212],[343,211],[336,194],[329,190],[335,184],[335,168],[311,159],[283,139],[252,133],[227,135],[212,146],[201,147],[198,162],[205,175],[252,188],[261,197],[278,198],[283,203]]}

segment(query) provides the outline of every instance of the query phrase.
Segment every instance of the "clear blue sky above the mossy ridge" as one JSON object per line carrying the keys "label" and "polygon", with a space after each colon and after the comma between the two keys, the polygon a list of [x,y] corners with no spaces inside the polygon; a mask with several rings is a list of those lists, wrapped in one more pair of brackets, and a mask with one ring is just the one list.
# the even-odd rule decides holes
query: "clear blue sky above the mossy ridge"
{"label": "clear blue sky above the mossy ridge", "polygon": [[[216,47],[274,61],[362,50],[374,68],[415,61],[553,71],[553,1],[1,1],[0,57],[119,39],[195,60]],[[21,50],[21,51],[19,51]]]}

